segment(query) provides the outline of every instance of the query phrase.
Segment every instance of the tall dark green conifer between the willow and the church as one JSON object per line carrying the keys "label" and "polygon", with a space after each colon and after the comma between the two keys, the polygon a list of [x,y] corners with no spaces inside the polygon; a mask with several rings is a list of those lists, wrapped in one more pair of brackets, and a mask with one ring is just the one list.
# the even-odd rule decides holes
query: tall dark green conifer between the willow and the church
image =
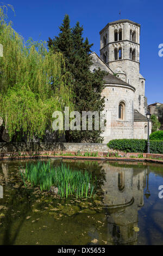
{"label": "tall dark green conifer between the willow and the church", "polygon": [[[74,81],[74,109],[82,114],[82,111],[102,111],[104,109],[104,97],[101,97],[104,88],[103,77],[105,72],[101,70],[90,71],[92,59],[90,57],[92,44],[83,38],[83,26],[76,23],[70,28],[68,15],[60,27],[59,36],[52,40],[49,38],[49,48],[55,52],[62,52],[65,57],[66,68],[71,73]],[[93,131],[66,131],[67,142],[102,142],[101,130]]]}

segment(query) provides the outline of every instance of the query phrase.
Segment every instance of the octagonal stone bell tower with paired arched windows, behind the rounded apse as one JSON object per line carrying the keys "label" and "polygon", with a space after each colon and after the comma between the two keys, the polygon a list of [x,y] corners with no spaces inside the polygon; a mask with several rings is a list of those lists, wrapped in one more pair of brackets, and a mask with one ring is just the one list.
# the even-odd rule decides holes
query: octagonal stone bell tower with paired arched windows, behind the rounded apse
{"label": "octagonal stone bell tower with paired arched windows, behind the rounded apse", "polygon": [[145,78],[140,75],[140,24],[130,20],[108,23],[100,34],[100,56],[124,82],[135,87],[134,109],[145,115]]}

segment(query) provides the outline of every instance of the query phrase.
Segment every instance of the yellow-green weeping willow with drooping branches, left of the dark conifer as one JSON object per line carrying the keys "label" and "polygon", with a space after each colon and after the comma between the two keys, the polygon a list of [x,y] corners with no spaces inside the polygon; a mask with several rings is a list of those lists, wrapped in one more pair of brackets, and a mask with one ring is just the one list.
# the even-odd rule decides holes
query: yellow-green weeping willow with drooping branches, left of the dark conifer
{"label": "yellow-green weeping willow with drooping branches, left of the dark conifer", "polygon": [[73,109],[73,88],[61,53],[46,42],[24,41],[0,7],[0,117],[10,139],[15,133],[42,138],[52,127],[52,113]]}

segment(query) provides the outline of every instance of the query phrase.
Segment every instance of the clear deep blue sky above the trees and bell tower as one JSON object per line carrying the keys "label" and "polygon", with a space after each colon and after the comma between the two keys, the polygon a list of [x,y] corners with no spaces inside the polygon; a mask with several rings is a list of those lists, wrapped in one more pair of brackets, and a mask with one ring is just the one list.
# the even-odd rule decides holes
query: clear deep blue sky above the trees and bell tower
{"label": "clear deep blue sky above the trees and bell tower", "polygon": [[[84,26],[84,36],[93,43],[92,51],[99,54],[99,31],[111,21],[129,19],[141,24],[140,72],[146,78],[148,104],[163,103],[163,57],[158,45],[163,44],[163,1],[123,0],[6,0],[15,9],[9,10],[14,29],[26,40],[48,40],[58,35],[59,26],[68,14],[73,27],[77,21]],[[121,17],[119,15],[121,10]]]}

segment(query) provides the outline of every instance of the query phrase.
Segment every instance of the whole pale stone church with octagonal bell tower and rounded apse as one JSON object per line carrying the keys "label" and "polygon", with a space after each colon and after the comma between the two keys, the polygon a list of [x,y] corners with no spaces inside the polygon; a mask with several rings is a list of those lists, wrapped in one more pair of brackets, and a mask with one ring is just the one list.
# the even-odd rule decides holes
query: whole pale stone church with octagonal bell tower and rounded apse
{"label": "whole pale stone church with octagonal bell tower and rounded apse", "polygon": [[[100,32],[100,57],[91,54],[91,71],[101,68],[105,111],[103,143],[110,139],[147,139],[145,78],[140,74],[140,24],[130,20],[108,23]],[[150,123],[151,132],[151,123]]]}

